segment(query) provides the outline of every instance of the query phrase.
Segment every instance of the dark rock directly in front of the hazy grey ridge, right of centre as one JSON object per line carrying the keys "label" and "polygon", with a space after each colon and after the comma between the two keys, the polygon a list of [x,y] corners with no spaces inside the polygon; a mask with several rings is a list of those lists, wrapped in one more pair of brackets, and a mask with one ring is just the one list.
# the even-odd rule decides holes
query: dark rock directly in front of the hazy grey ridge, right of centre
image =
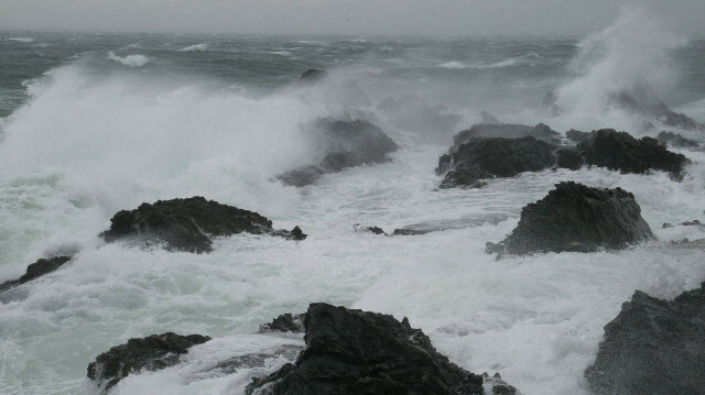
{"label": "dark rock directly in front of the hazy grey ridge, right of centre", "polygon": [[531,136],[471,139],[438,160],[436,172],[448,171],[440,187],[476,188],[485,185],[482,179],[539,172],[553,166],[553,145]]}

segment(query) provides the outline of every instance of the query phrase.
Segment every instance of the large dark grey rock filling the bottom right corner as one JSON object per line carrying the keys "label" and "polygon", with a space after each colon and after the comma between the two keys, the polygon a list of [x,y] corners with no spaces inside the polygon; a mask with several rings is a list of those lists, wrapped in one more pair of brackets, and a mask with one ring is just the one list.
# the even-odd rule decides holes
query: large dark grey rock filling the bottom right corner
{"label": "large dark grey rock filling the bottom right corner", "polygon": [[596,395],[705,394],[705,283],[673,301],[637,290],[585,375]]}

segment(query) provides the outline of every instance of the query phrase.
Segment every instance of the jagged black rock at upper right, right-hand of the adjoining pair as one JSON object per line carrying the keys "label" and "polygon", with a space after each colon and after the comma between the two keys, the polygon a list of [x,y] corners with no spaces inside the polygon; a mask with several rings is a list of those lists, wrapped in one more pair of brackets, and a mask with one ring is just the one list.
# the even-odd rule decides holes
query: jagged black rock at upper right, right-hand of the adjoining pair
{"label": "jagged black rock at upper right, right-hand of the adjoining pair", "polygon": [[588,165],[621,173],[663,171],[674,179],[683,178],[683,168],[690,163],[683,154],[670,152],[655,139],[637,140],[629,133],[614,129],[596,131],[588,141],[578,144],[578,150],[583,151]]}

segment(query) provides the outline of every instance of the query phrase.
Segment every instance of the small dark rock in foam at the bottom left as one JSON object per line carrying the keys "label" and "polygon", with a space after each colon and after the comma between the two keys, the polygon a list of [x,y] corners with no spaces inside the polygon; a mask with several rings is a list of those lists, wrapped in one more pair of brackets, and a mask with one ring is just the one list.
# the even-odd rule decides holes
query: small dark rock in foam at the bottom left
{"label": "small dark rock in foam at the bottom left", "polygon": [[180,336],[172,332],[152,334],[142,339],[130,339],[96,356],[88,365],[88,378],[108,389],[130,373],[142,370],[158,371],[173,366],[178,356],[196,344],[210,340],[207,336]]}

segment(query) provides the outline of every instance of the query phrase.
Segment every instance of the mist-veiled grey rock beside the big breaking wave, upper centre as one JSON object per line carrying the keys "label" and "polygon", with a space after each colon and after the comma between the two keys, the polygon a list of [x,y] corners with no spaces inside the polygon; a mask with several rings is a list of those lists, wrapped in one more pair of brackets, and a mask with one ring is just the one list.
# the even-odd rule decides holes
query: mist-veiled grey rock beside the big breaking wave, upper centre
{"label": "mist-veiled grey rock beside the big breaking wave, upper centre", "polygon": [[280,175],[278,178],[282,183],[303,187],[313,184],[326,173],[388,162],[387,154],[399,149],[381,129],[364,120],[321,119],[315,123],[314,130],[323,141],[325,156],[318,165],[304,166]]}

